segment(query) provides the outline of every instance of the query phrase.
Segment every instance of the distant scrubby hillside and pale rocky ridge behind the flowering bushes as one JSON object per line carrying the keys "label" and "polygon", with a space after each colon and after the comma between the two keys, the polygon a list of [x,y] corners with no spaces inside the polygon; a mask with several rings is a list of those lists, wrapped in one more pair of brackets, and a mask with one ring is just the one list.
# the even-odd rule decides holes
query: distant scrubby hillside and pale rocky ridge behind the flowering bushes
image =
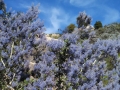
{"label": "distant scrubby hillside and pale rocky ridge behind the flowering bushes", "polygon": [[[97,39],[97,38],[115,39],[115,38],[120,37],[120,23],[108,24],[99,29],[94,29],[94,27],[92,25],[88,25],[84,29],[75,28],[72,33],[81,35],[83,37],[83,38],[81,38],[81,40],[85,40],[85,39],[87,39],[86,32],[87,32],[87,34],[90,34],[90,32],[92,32],[92,31],[95,31],[95,37],[93,37],[94,39]],[[59,37],[61,37],[61,34],[58,34],[58,33],[57,34],[55,34],[55,33],[46,34],[46,37],[58,39]]]}

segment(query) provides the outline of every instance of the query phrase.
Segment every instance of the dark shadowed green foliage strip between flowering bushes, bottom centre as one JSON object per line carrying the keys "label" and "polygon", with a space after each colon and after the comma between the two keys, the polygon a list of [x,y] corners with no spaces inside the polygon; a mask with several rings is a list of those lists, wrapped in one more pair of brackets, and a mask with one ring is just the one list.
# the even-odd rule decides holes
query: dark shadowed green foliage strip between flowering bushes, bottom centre
{"label": "dark shadowed green foliage strip between flowering bushes, bottom centre", "polygon": [[54,63],[58,67],[58,71],[55,73],[55,79],[56,79],[56,86],[59,88],[57,88],[56,90],[63,90],[66,86],[67,88],[69,87],[69,85],[65,83],[67,79],[66,77],[67,73],[65,68],[63,67],[63,63],[66,62],[66,60],[68,60],[69,58],[69,53],[68,53],[69,46],[70,44],[68,43],[68,40],[65,40],[65,46],[58,51],[54,51],[57,57]]}

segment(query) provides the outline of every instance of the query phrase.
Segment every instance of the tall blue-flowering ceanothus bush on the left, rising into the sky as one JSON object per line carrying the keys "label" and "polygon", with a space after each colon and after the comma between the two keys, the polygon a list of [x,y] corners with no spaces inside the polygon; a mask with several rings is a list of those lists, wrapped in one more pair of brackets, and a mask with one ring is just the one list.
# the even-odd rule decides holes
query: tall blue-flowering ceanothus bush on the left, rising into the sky
{"label": "tall blue-flowering ceanothus bush on the left, rising into the sky", "polygon": [[[30,76],[27,72],[29,65],[26,64],[26,61],[30,60],[29,57],[33,57],[30,62],[35,62],[36,58],[40,60],[38,56],[44,49],[46,39],[43,33],[45,28],[43,22],[38,19],[38,13],[38,6],[32,6],[27,13],[12,12],[10,17],[6,17],[8,23],[5,25],[0,17],[0,72],[6,76],[0,79],[1,88],[4,84],[14,88],[14,82],[19,83],[23,77],[20,76],[21,73]],[[6,79],[7,83],[4,83]]]}

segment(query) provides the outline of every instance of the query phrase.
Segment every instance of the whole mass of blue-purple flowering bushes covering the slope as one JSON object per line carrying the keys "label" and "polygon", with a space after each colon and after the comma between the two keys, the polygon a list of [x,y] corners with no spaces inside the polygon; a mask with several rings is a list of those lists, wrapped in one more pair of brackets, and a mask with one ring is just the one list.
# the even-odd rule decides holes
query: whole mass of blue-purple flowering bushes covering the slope
{"label": "whole mass of blue-purple flowering bushes covering the slope", "polygon": [[[120,40],[46,41],[38,6],[0,21],[0,89],[119,90]],[[89,34],[90,37],[95,33]]]}

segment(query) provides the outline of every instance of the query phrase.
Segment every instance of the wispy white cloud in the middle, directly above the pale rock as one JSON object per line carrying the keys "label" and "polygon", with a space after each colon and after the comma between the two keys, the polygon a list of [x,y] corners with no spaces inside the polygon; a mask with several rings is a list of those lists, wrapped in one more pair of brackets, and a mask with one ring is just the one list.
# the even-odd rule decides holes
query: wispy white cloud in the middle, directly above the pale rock
{"label": "wispy white cloud in the middle, directly above the pale rock", "polygon": [[67,25],[69,23],[69,15],[67,15],[60,8],[52,8],[49,9],[50,12],[47,12],[50,16],[49,22],[51,24],[50,27],[47,27],[47,33],[57,32],[58,29],[61,29],[63,25]]}

